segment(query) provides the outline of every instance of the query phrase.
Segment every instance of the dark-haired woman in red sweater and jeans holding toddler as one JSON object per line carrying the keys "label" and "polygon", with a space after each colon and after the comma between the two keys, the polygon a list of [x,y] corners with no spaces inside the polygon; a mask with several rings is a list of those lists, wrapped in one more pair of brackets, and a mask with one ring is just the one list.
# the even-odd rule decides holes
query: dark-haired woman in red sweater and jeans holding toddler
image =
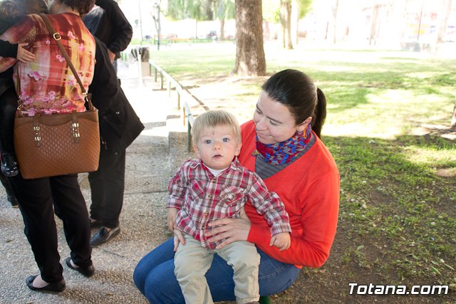
{"label": "dark-haired woman in red sweater and jeans holding toddler", "polygon": [[[291,247],[269,246],[269,226],[254,207],[247,217],[212,222],[212,239],[247,240],[257,245],[260,295],[279,293],[296,281],[302,266],[326,262],[336,234],[339,174],[331,153],[320,140],[326,98],[298,70],[282,70],[264,83],[254,119],[242,125],[239,161],[264,179],[290,216]],[[150,303],[184,303],[174,275],[173,241],[148,253],[133,273],[135,285]],[[214,256],[206,278],[214,301],[234,300],[232,268]]]}

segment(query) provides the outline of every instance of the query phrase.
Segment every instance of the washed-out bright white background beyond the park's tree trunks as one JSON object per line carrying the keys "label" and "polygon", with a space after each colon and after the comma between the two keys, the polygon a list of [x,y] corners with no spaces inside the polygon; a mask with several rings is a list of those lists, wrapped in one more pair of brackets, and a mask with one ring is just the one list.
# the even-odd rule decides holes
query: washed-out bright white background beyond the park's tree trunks
{"label": "washed-out bright white background beyond the park's tree trunks", "polygon": [[[166,4],[165,0],[119,0],[133,26],[133,38],[156,38],[159,12],[163,38],[206,38],[212,33],[219,34],[219,21],[170,21],[164,14]],[[225,21],[224,28],[228,38],[235,36],[234,20]],[[265,38],[277,38],[279,29],[279,24],[265,22]],[[314,0],[311,11],[299,21],[295,32],[307,41],[445,51],[456,48],[456,0]]]}

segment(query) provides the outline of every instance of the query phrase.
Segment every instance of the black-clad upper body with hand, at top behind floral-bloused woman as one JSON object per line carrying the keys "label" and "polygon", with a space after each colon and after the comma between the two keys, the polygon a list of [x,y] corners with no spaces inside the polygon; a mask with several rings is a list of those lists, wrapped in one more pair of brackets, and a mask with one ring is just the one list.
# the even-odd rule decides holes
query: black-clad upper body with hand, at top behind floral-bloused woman
{"label": "black-clad upper body with hand, at top behind floral-bloused woman", "polygon": [[130,44],[133,28],[114,0],[96,0],[93,9],[83,16],[90,33],[108,47],[108,55],[117,73],[120,52]]}

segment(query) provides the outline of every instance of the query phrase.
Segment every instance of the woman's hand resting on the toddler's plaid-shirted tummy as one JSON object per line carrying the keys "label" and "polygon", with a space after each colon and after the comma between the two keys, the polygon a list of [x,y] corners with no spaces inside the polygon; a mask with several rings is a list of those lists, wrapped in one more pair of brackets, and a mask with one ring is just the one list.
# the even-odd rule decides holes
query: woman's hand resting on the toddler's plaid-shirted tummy
{"label": "woman's hand resting on the toddler's plaid-shirted tummy", "polygon": [[234,241],[247,241],[250,231],[250,220],[244,208],[242,208],[239,219],[217,219],[210,222],[209,226],[217,228],[207,231],[207,236],[212,236],[207,241],[214,242],[224,239],[216,247],[217,249],[221,249]]}

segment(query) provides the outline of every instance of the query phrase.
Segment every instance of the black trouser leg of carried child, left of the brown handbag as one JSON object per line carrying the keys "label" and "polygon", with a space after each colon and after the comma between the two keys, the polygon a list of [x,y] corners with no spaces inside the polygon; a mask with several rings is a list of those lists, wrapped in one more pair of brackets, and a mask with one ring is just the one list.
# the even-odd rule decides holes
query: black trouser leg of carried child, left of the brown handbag
{"label": "black trouser leg of carried child, left of the brown handbag", "polygon": [[17,109],[17,95],[14,87],[9,88],[0,97],[0,148],[1,153],[14,152],[13,129],[14,115]]}

